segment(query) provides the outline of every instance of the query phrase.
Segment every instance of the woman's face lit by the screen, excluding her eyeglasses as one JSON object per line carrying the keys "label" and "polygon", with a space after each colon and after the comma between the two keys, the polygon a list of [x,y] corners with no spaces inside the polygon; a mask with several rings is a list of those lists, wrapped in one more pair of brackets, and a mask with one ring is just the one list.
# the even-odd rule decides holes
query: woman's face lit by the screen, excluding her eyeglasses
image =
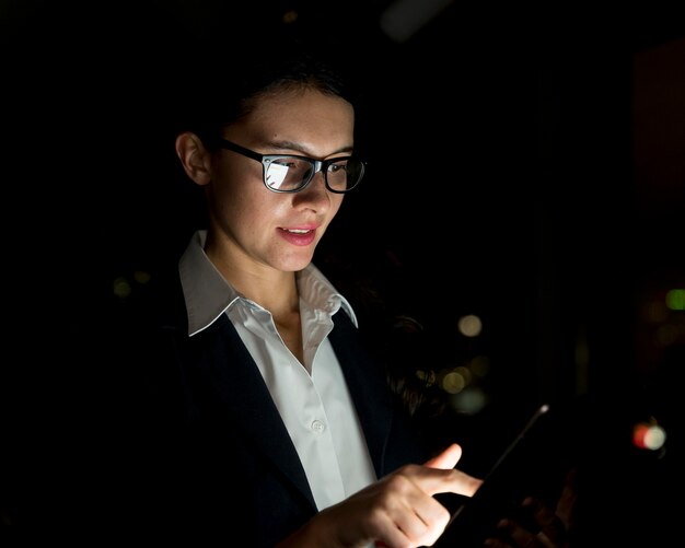
{"label": "woman's face lit by the screen, excluding her eyeglasses", "polygon": [[[345,100],[299,90],[262,97],[223,137],[260,154],[326,160],[351,154],[353,125]],[[299,193],[274,193],[264,185],[258,161],[229,150],[217,153],[207,193],[211,240],[233,267],[249,269],[304,268],[342,203],[321,172]]]}

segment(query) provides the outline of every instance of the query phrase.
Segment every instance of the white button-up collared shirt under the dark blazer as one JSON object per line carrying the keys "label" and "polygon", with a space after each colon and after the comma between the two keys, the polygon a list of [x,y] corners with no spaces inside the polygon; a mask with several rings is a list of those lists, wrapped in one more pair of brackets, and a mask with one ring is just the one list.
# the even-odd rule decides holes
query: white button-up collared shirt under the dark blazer
{"label": "white button-up collared shirt under the dark blazer", "polygon": [[205,254],[206,231],[195,233],[178,268],[188,311],[188,336],[227,314],[254,358],[290,433],[318,510],[373,482],[375,471],[333,347],[332,316],[348,301],[313,265],[299,272],[304,363],[282,341],[271,313],[235,291]]}

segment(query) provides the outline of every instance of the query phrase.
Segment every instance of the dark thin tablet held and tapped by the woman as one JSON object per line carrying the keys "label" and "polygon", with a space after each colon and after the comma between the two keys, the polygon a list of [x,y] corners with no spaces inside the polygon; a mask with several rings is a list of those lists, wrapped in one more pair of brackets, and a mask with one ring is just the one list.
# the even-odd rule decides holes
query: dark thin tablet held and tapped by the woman
{"label": "dark thin tablet held and tapped by the woman", "polygon": [[485,476],[475,494],[458,499],[434,547],[481,547],[488,536],[494,536],[502,517],[511,516],[525,497],[537,494],[555,462],[552,423],[549,405],[542,405]]}

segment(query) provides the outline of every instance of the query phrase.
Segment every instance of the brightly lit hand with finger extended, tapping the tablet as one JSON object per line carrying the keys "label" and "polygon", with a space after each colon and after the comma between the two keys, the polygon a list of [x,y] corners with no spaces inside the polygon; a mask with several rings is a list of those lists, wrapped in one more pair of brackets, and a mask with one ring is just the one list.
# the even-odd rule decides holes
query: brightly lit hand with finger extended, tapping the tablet
{"label": "brightly lit hand with finger extended, tapping the tablet", "polygon": [[406,465],[318,513],[280,548],[431,546],[444,530],[449,511],[433,495],[452,492],[472,497],[480,483],[455,469],[462,456],[452,444],[425,465]]}

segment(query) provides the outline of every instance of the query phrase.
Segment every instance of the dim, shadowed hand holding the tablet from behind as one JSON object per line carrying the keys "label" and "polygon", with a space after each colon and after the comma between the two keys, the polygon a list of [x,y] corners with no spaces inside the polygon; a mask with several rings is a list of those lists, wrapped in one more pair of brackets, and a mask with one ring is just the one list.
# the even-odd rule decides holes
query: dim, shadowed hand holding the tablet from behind
{"label": "dim, shadowed hand holding the tablet from behind", "polygon": [[503,518],[498,524],[498,538],[488,538],[488,548],[569,548],[572,527],[572,511],[576,503],[573,486],[574,470],[567,474],[564,489],[557,501],[556,510],[552,510],[539,499],[529,497],[523,501],[522,510],[526,523],[521,520]]}

